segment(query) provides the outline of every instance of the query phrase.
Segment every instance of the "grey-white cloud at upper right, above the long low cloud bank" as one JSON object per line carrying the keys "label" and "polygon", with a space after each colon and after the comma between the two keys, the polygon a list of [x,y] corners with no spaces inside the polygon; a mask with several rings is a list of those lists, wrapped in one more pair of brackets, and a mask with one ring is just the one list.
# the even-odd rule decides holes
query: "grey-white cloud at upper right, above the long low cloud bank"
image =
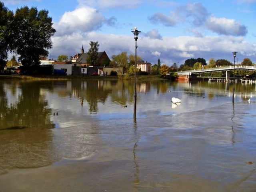
{"label": "grey-white cloud at upper right, above the long low cloud bank", "polygon": [[[206,8],[201,3],[188,3],[177,7],[170,16],[157,12],[148,17],[153,24],[163,24],[167,27],[174,27],[180,23],[192,24],[188,31],[202,37],[202,29],[208,29],[221,35],[245,36],[248,32],[246,26],[234,19],[216,18],[210,16]],[[199,30],[200,32],[199,32]]]}

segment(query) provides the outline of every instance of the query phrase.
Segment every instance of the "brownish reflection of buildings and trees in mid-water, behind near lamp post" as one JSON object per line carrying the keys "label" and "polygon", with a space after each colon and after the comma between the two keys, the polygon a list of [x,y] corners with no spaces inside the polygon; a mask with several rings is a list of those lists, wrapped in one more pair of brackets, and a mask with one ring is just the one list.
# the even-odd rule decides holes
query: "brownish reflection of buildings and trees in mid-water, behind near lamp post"
{"label": "brownish reflection of buildings and trees in mid-water, behind near lamp post", "polygon": [[[156,86],[162,93],[167,92],[169,81],[138,81],[137,93],[150,91],[150,86]],[[82,108],[85,100],[88,103],[90,112],[98,112],[98,102],[105,103],[108,96],[114,104],[121,106],[133,103],[134,100],[134,81],[133,80],[84,80],[72,81],[72,94],[80,98]],[[137,100],[139,101],[139,97]]]}

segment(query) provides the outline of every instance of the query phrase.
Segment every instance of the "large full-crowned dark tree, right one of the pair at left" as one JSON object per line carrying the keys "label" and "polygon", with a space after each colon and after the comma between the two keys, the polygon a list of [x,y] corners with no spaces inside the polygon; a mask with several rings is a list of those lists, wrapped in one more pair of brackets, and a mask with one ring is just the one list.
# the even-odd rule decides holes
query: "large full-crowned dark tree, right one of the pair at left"
{"label": "large full-crowned dark tree, right one of the pair at left", "polygon": [[36,7],[18,8],[12,25],[11,50],[20,55],[18,60],[25,70],[32,72],[39,66],[39,56],[48,56],[52,48],[51,37],[56,30],[47,10],[38,12]]}

